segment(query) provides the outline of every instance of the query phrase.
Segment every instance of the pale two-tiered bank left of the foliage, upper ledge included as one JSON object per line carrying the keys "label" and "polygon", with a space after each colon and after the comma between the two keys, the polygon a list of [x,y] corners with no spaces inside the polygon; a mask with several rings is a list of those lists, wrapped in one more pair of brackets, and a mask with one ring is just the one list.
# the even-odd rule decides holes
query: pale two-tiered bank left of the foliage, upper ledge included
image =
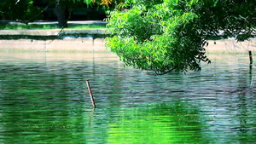
{"label": "pale two-tiered bank left of the foliage, upper ledge included", "polygon": [[1,30],[0,51],[106,52],[105,30]]}

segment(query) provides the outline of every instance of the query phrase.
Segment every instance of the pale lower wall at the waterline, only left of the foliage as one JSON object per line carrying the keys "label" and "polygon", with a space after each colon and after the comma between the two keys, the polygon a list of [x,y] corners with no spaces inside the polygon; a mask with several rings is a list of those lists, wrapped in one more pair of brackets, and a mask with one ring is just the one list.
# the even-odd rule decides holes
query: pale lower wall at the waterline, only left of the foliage
{"label": "pale lower wall at the waterline, only left of the foliage", "polygon": [[104,38],[70,38],[63,40],[0,40],[0,51],[23,52],[107,52]]}

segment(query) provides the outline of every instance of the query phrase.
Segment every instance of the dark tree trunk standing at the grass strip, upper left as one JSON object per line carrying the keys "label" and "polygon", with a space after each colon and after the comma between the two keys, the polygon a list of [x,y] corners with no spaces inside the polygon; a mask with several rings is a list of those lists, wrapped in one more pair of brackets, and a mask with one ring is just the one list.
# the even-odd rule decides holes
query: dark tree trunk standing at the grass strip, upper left
{"label": "dark tree trunk standing at the grass strip, upper left", "polygon": [[67,27],[67,7],[60,1],[56,0],[55,11],[59,27]]}

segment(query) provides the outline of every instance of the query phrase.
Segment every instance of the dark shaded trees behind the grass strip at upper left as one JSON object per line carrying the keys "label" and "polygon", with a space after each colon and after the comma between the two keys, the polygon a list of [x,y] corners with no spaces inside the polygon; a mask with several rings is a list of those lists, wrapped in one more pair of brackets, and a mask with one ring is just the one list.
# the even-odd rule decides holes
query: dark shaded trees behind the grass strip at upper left
{"label": "dark shaded trees behind the grass strip at upper left", "polygon": [[101,3],[85,0],[0,0],[0,19],[28,24],[34,20],[103,20],[106,9]]}

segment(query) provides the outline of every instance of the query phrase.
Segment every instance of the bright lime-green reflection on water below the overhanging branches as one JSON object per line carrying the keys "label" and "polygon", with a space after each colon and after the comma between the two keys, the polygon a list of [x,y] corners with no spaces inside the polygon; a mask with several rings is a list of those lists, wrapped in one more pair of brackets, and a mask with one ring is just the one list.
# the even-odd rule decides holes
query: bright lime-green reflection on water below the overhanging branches
{"label": "bright lime-green reflection on water below the overhanging branches", "polygon": [[203,141],[198,112],[180,101],[127,108],[109,124],[108,143],[198,143]]}

